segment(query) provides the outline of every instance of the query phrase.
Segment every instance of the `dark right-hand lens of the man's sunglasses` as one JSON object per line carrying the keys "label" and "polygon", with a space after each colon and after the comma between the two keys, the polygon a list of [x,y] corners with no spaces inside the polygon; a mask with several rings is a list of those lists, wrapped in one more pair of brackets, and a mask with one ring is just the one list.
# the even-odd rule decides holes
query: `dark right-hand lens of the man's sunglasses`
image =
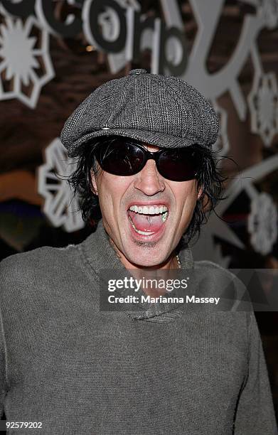
{"label": "dark right-hand lens of the man's sunglasses", "polygon": [[190,148],[167,150],[159,159],[159,172],[172,181],[188,181],[196,177],[201,159]]}

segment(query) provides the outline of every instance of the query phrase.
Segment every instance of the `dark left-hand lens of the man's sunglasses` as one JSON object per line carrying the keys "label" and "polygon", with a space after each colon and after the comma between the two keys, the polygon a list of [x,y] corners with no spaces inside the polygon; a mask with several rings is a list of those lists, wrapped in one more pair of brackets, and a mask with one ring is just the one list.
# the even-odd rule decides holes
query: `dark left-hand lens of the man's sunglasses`
{"label": "dark left-hand lens of the man's sunglasses", "polygon": [[102,169],[109,173],[131,176],[141,171],[144,151],[134,144],[116,139],[102,144],[98,160]]}

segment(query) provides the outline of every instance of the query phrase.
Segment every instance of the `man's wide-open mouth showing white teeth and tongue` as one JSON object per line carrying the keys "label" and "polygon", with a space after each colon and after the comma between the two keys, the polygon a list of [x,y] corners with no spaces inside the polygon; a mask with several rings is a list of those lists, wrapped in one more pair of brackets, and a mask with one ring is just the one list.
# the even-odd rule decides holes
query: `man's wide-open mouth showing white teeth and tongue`
{"label": "man's wide-open mouth showing white teeth and tongue", "polygon": [[159,232],[169,215],[166,205],[131,205],[127,210],[129,222],[137,234],[150,236]]}

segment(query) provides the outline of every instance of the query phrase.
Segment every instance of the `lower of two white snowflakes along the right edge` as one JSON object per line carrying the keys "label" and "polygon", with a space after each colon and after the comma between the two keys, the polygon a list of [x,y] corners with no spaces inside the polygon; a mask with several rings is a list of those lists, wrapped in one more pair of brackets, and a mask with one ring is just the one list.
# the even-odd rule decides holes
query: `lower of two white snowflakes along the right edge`
{"label": "lower of two white snowflakes along the right edge", "polygon": [[256,252],[266,255],[272,251],[277,240],[277,207],[267,193],[260,193],[251,202],[248,232]]}

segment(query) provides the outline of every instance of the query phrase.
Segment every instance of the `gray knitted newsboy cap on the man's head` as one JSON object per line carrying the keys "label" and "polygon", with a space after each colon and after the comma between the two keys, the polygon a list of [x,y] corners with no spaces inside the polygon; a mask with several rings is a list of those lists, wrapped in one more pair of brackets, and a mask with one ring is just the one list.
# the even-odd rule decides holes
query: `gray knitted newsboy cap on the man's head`
{"label": "gray knitted newsboy cap on the man's head", "polygon": [[65,122],[60,139],[74,157],[90,139],[115,134],[166,148],[210,147],[218,128],[215,110],[194,87],[132,70],[97,87]]}

